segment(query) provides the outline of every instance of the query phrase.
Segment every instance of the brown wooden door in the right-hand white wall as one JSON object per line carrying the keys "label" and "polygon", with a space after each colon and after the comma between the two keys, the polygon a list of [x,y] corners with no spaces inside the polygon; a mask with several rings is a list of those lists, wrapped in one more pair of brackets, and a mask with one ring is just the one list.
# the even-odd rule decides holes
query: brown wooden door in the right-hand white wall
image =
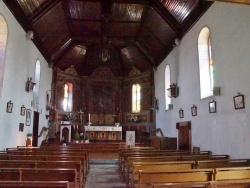
{"label": "brown wooden door in the right-hand white wall", "polygon": [[191,121],[176,123],[176,129],[178,129],[178,149],[191,151]]}

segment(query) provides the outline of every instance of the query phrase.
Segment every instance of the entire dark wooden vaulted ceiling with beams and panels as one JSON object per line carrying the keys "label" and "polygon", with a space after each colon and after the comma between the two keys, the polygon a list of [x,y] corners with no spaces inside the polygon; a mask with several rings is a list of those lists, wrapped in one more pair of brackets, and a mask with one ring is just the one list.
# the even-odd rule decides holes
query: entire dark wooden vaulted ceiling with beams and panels
{"label": "entire dark wooden vaulted ceiling with beams and panels", "polygon": [[[49,66],[91,76],[108,67],[127,76],[152,70],[171,52],[212,2],[204,0],[3,0],[33,31]],[[102,54],[107,56],[102,58]]]}

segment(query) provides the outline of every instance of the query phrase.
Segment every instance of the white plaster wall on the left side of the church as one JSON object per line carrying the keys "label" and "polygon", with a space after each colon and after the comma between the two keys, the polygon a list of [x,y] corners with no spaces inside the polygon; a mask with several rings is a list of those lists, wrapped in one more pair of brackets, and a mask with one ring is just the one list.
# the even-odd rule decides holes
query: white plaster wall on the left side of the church
{"label": "white plaster wall on the left side of the church", "polygon": [[[37,110],[31,106],[33,93],[25,91],[27,78],[32,77],[34,80],[37,59],[41,62],[39,108],[42,109],[42,114],[39,117],[39,132],[42,126],[48,125],[45,118],[45,94],[51,87],[52,70],[33,42],[26,40],[25,31],[2,1],[0,1],[0,14],[8,25],[3,90],[0,95],[0,150],[2,150],[6,147],[25,145],[26,134],[33,131],[31,123],[31,126],[24,126],[24,132],[19,132],[19,123],[25,124],[25,116],[20,115],[22,105],[32,110],[31,122],[33,122],[33,111]],[[6,105],[10,100],[13,102],[13,111],[7,113]],[[42,138],[39,138],[39,145],[41,140]]]}

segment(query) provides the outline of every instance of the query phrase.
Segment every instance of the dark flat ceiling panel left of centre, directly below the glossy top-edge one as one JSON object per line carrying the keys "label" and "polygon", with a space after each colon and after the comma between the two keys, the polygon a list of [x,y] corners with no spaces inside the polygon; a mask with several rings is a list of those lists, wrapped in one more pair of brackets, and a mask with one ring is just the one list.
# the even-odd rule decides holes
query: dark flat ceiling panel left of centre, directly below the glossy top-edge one
{"label": "dark flat ceiling panel left of centre, directly below the glossy top-edge one", "polygon": [[71,21],[69,26],[72,35],[77,38],[101,36],[101,22],[99,21]]}

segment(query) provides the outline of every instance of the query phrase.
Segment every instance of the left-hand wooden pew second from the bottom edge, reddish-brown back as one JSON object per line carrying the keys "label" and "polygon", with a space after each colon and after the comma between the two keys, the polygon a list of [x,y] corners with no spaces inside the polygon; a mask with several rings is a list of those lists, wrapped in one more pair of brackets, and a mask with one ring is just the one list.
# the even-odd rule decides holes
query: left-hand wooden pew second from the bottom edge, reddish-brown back
{"label": "left-hand wooden pew second from the bottom edge, reddish-brown back", "polygon": [[68,181],[78,188],[76,169],[0,168],[0,180],[7,181]]}

